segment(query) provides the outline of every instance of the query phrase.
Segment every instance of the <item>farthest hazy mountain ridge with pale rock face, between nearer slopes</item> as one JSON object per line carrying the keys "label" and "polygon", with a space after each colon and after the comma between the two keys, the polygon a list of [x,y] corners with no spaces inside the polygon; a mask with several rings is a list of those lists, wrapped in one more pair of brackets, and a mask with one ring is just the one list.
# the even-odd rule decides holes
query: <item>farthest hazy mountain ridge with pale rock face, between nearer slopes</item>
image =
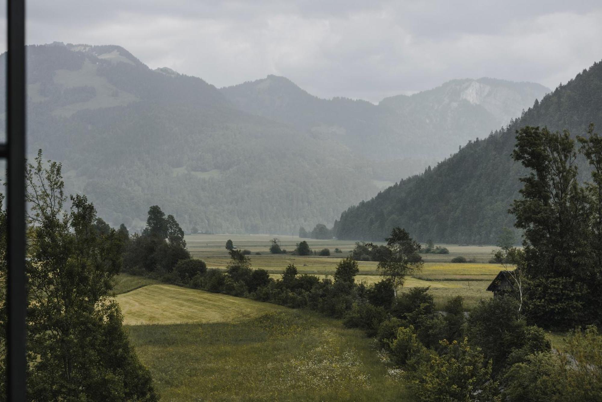
{"label": "farthest hazy mountain ridge with pale rock face, between nearer slopes", "polygon": [[[441,160],[469,139],[500,128],[549,90],[530,82],[456,79],[379,105],[341,97],[320,99],[284,77],[270,75],[221,89],[242,110],[328,134],[375,162],[409,159],[414,172]],[[409,166],[398,165],[395,181]],[[420,170],[415,170],[415,169]]]}

